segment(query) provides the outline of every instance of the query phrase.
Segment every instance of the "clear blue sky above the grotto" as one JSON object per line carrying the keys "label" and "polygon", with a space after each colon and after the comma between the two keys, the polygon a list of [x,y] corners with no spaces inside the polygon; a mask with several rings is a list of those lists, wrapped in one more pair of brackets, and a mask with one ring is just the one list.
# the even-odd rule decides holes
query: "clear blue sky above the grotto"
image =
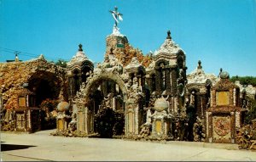
{"label": "clear blue sky above the grotto", "polygon": [[[41,53],[72,59],[83,44],[101,62],[112,33],[108,10],[124,14],[120,32],[144,54],[158,49],[172,32],[187,56],[188,73],[198,60],[207,73],[256,76],[255,0],[0,0],[0,62]],[[11,49],[11,50],[9,50]]]}

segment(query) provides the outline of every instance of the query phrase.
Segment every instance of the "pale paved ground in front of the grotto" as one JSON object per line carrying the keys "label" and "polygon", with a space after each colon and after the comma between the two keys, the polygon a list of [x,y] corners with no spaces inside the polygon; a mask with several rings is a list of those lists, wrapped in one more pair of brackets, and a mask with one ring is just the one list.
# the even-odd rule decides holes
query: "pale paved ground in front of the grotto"
{"label": "pale paved ground in front of the grotto", "polygon": [[2,161],[85,160],[211,160],[255,161],[256,152],[236,144],[204,142],[139,142],[122,139],[54,137],[50,131],[32,134],[1,132]]}

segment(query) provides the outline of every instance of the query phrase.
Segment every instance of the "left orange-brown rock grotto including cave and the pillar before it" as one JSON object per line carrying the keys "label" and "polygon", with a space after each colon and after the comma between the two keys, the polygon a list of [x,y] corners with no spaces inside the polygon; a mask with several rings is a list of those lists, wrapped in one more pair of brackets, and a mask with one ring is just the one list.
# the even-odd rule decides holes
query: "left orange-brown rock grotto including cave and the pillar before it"
{"label": "left orange-brown rock grotto including cave and the pillar before it", "polygon": [[66,70],[43,55],[26,62],[1,63],[0,75],[3,130],[36,131],[40,104],[47,98],[57,100],[61,94],[67,98]]}

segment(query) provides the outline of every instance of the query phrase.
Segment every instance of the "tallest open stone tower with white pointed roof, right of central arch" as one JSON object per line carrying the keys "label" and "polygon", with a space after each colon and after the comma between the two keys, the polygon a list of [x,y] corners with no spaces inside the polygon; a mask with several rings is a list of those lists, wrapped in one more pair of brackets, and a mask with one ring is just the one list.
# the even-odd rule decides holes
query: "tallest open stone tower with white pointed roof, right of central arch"
{"label": "tallest open stone tower with white pointed roof, right of central arch", "polygon": [[154,53],[154,60],[147,68],[147,82],[151,95],[167,97],[172,112],[184,111],[186,84],[186,56],[183,50],[172,41],[167,32],[165,42]]}

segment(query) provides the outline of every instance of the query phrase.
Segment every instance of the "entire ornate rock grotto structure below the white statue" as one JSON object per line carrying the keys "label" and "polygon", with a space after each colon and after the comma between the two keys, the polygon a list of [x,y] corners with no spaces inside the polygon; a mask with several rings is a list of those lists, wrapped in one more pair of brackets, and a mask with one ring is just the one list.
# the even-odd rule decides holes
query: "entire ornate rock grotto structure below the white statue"
{"label": "entire ornate rock grotto structure below the white statue", "polygon": [[[170,31],[158,50],[143,56],[114,26],[104,61],[96,67],[81,44],[67,68],[43,56],[1,63],[1,122],[5,130],[35,130],[51,113],[55,135],[236,142],[243,111],[239,98],[245,92],[255,97],[253,88],[241,92],[226,73],[206,74],[201,61],[186,73],[186,55]],[[49,112],[45,101],[50,100],[55,111],[32,114]]]}

